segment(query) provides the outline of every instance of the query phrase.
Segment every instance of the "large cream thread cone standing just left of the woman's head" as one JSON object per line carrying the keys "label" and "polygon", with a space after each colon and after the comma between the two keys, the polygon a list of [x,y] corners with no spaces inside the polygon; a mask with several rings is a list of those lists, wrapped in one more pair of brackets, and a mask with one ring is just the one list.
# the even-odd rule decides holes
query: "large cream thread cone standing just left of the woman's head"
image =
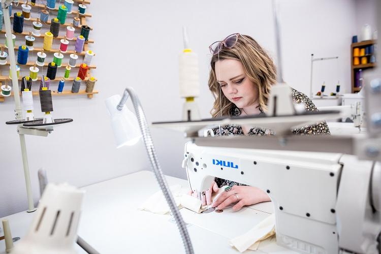
{"label": "large cream thread cone standing just left of the woman's head", "polygon": [[197,54],[184,50],[179,55],[180,96],[198,97],[200,95],[199,63]]}

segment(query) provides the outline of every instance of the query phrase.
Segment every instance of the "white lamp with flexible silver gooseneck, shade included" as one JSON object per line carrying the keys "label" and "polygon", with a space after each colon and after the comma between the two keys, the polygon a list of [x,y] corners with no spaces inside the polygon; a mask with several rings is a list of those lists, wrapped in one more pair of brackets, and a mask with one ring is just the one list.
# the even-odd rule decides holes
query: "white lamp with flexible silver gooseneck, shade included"
{"label": "white lamp with flexible silver gooseneck, shade included", "polygon": [[[134,105],[136,117],[124,105],[129,97],[131,97],[132,103]],[[175,218],[177,227],[180,231],[181,238],[185,247],[185,252],[188,254],[194,253],[192,242],[190,241],[186,225],[168,188],[168,184],[164,178],[160,164],[158,163],[156,151],[153,146],[147,120],[143,108],[140,104],[139,98],[136,96],[134,89],[131,87],[125,88],[123,92],[123,97],[119,100],[119,102],[118,100],[116,100],[118,98],[120,98],[120,96],[117,95],[112,96],[106,100],[106,106],[111,115],[112,128],[114,131],[117,145],[118,147],[124,145],[132,145],[137,143],[141,136],[143,137],[153,172],[155,174],[158,184],[160,185],[160,188],[163,191],[164,197],[169,205],[169,208],[171,209],[171,212]],[[127,117],[129,119],[126,119]],[[139,124],[141,135],[137,134],[136,132],[136,130],[138,130],[137,123]]]}

